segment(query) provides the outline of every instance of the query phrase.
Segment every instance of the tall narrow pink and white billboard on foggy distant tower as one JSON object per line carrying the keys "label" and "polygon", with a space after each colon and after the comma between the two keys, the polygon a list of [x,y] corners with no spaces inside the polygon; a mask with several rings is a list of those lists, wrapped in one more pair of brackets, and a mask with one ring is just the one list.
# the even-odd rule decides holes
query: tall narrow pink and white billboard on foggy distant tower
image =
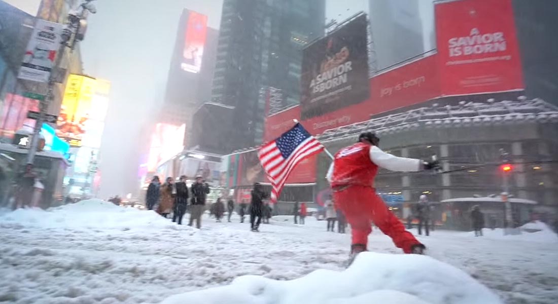
{"label": "tall narrow pink and white billboard on foggy distant tower", "polygon": [[205,39],[207,37],[208,16],[190,11],[184,36],[184,49],[182,50],[182,70],[199,73],[201,59],[204,54]]}

